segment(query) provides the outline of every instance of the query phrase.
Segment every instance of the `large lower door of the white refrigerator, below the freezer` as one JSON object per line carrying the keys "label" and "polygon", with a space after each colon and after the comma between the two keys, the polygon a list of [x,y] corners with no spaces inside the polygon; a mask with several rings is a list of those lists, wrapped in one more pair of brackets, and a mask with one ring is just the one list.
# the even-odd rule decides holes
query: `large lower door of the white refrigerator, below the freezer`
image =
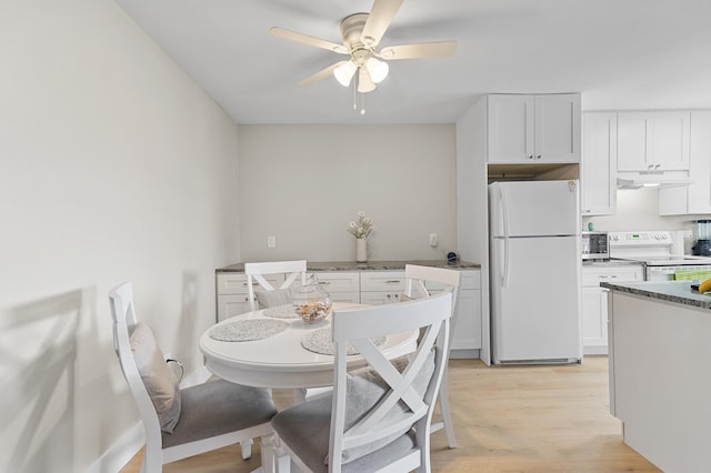
{"label": "large lower door of the white refrigerator, below the freezer", "polygon": [[508,243],[492,239],[494,363],[582,358],[579,241],[575,236],[508,239]]}

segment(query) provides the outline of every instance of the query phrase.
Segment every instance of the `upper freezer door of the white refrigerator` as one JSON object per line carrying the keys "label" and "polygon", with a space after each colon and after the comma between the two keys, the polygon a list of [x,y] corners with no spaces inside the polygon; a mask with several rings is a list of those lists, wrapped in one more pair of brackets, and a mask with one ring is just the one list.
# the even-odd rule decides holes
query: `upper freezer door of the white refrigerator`
{"label": "upper freezer door of the white refrigerator", "polygon": [[578,188],[577,180],[489,184],[491,236],[580,234]]}

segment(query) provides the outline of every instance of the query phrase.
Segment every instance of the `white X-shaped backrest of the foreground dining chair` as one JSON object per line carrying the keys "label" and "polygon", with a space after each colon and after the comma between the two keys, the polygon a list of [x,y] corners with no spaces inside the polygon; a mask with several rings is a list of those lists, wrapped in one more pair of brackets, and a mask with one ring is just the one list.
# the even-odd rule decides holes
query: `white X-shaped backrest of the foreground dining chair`
{"label": "white X-shaped backrest of the foreground dining chair", "polygon": [[[349,452],[356,455],[352,452],[358,449],[378,449],[378,445],[409,432],[413,426],[420,462],[429,462],[429,427],[449,349],[451,304],[452,295],[442,293],[399,304],[333,313],[336,371],[329,443],[330,471],[340,471],[344,459],[333,452],[348,457]],[[383,335],[421,329],[424,329],[424,336],[414,354],[408,356],[407,366],[395,368],[375,346],[378,338]],[[368,401],[353,397],[361,393],[349,392],[349,382],[353,383],[352,379],[356,378],[347,371],[349,344],[368,362],[369,375],[365,378],[372,379],[375,374],[375,378],[379,376],[378,385],[384,390],[384,395],[365,412],[353,413],[353,409],[362,409]],[[399,359],[395,364],[400,362],[404,363],[404,360]],[[382,382],[387,384],[380,384]],[[372,384],[363,389],[368,392],[373,390]]]}

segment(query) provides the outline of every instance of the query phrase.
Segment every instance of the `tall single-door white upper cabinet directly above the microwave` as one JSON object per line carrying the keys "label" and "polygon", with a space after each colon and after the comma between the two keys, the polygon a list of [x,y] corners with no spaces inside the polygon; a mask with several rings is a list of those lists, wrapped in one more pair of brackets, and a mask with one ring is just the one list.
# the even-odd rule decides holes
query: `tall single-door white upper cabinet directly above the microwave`
{"label": "tall single-door white upper cabinet directly above the microwave", "polygon": [[582,114],[581,210],[611,215],[617,210],[618,114]]}

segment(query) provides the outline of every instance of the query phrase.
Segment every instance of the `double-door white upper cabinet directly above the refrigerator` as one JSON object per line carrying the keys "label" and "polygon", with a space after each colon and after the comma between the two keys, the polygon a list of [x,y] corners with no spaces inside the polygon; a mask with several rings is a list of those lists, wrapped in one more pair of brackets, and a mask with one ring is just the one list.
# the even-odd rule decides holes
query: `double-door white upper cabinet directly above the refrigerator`
{"label": "double-door white upper cabinet directly above the refrigerator", "polygon": [[490,163],[580,162],[580,94],[488,95]]}

